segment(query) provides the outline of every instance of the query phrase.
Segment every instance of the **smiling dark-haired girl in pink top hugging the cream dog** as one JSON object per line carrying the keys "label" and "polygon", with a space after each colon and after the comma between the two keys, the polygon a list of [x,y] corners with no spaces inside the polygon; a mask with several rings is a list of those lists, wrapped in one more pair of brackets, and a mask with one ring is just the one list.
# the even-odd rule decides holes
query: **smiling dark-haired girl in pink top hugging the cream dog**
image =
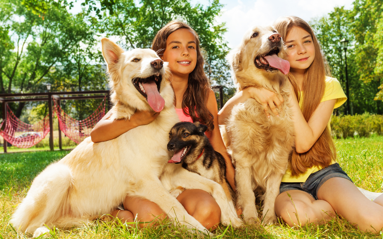
{"label": "smiling dark-haired girl in pink top hugging the cream dog", "polygon": [[[214,150],[226,159],[226,177],[233,189],[234,167],[231,164],[218,127],[218,109],[215,94],[203,71],[204,59],[200,50],[198,34],[181,21],[171,21],[156,34],[152,49],[162,60],[169,63],[170,81],[175,93],[175,108],[181,121],[200,121],[208,126],[206,135]],[[111,112],[111,111],[110,111]],[[149,124],[160,113],[137,111],[131,119],[110,120],[110,113],[97,123],[91,132],[94,143],[106,141],[135,128]],[[215,229],[221,219],[221,209],[211,195],[203,190],[188,189],[177,200],[186,211],[208,229]],[[133,222],[135,216],[141,222],[166,217],[159,206],[149,200],[126,197],[125,210],[115,210],[111,216]],[[142,223],[139,226],[152,225]]]}

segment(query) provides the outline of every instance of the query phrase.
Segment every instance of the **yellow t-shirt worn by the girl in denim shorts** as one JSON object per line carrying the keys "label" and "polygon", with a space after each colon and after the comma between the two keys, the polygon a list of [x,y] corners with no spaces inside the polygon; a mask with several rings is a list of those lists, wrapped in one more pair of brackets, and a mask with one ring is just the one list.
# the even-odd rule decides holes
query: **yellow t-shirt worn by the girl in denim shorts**
{"label": "yellow t-shirt worn by the girl in denim shorts", "polygon": [[[324,91],[324,96],[321,100],[323,101],[328,101],[331,99],[337,99],[335,102],[334,109],[337,107],[341,106],[344,102],[346,102],[347,97],[343,92],[342,86],[340,86],[339,81],[336,78],[331,78],[329,76],[326,76],[326,89]],[[303,99],[303,92],[300,92],[300,101],[299,101],[299,106],[302,108],[302,99]],[[328,123],[328,126],[330,128],[330,122],[331,122],[331,117]],[[336,163],[334,159],[332,160],[331,164]],[[314,166],[309,169],[303,174],[300,174],[296,177],[291,176],[291,171],[289,169],[286,170],[285,175],[282,177],[282,182],[306,182],[306,179],[310,176],[310,174],[317,172],[321,170],[321,166]]]}

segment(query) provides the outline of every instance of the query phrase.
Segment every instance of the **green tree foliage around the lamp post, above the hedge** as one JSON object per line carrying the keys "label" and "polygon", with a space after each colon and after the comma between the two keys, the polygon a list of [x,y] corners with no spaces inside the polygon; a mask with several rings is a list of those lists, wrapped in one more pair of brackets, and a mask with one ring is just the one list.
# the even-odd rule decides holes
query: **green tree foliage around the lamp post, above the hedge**
{"label": "green tree foliage around the lamp post, above the hedge", "polygon": [[[339,79],[344,89],[345,59],[339,40],[345,37],[350,41],[347,67],[354,113],[382,114],[382,2],[356,0],[353,5],[351,10],[336,7],[328,15],[312,20],[311,25],[321,42],[332,75]],[[340,111],[345,111],[345,106]]]}

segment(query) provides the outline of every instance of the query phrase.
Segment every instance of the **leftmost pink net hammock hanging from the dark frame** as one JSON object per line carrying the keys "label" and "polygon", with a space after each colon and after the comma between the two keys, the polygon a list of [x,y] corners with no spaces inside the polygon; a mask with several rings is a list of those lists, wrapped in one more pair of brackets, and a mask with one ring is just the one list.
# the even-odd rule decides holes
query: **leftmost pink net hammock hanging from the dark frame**
{"label": "leftmost pink net hammock hanging from the dark frame", "polygon": [[3,125],[5,127],[0,130],[0,135],[5,141],[18,148],[30,148],[43,140],[49,133],[49,115],[36,124],[30,125],[17,118],[7,105],[7,118],[3,120],[0,128]]}

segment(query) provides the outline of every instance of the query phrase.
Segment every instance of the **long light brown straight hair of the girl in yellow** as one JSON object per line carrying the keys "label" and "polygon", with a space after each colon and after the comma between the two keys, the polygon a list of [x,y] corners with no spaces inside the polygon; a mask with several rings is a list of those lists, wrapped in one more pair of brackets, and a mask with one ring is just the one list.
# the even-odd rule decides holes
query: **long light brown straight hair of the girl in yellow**
{"label": "long light brown straight hair of the girl in yellow", "polygon": [[[308,121],[323,98],[326,88],[326,75],[331,76],[331,73],[314,31],[306,21],[296,16],[286,16],[279,18],[274,23],[274,28],[281,34],[282,39],[286,39],[287,34],[293,27],[307,31],[311,35],[315,47],[314,61],[306,69],[303,77],[302,113],[304,119]],[[294,91],[299,92],[294,76],[289,73],[288,78],[294,87]],[[298,101],[300,101],[300,94],[296,95]],[[295,149],[292,151],[291,176],[298,176],[313,166],[328,167],[332,159],[336,159],[336,150],[327,125],[321,136],[307,152],[297,153]]]}

